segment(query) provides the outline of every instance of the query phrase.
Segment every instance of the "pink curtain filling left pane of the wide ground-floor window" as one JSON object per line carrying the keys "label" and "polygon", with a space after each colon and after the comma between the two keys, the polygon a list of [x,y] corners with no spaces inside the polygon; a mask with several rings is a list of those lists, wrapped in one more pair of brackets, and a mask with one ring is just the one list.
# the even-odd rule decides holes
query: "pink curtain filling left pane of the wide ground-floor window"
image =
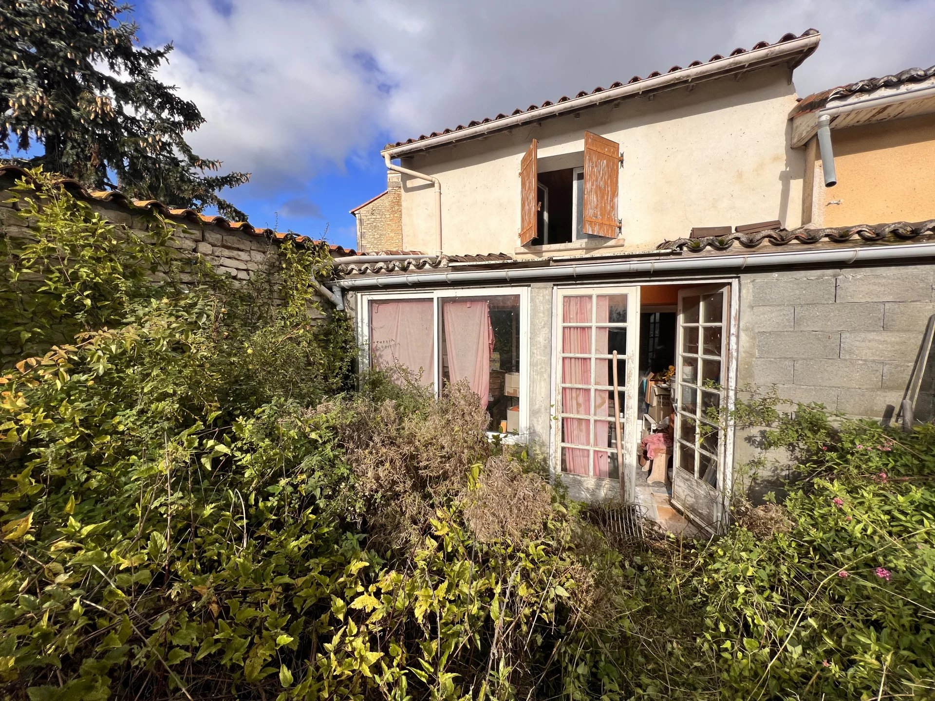
{"label": "pink curtain filling left pane of the wide ground-floor window", "polygon": [[435,333],[431,299],[370,303],[370,360],[380,370],[406,368],[424,387],[433,383]]}

